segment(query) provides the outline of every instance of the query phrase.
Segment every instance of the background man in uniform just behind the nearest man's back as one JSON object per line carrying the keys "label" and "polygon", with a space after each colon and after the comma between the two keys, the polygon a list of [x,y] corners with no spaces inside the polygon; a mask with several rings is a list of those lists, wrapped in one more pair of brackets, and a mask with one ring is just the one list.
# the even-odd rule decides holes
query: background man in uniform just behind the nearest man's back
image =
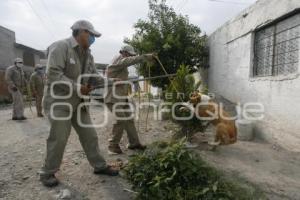
{"label": "background man in uniform just behind the nearest man's back", "polygon": [[35,105],[38,117],[44,117],[42,113],[42,99],[44,94],[44,82],[45,82],[45,68],[46,66],[37,64],[31,76],[30,76],[30,89],[35,98]]}

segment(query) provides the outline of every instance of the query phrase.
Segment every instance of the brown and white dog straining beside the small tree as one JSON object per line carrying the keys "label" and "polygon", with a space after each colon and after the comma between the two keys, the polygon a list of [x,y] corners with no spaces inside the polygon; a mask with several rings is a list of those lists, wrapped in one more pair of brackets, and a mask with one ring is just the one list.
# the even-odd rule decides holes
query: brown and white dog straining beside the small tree
{"label": "brown and white dog straining beside the small tree", "polygon": [[[196,109],[194,110],[198,117],[212,117],[214,113],[217,116],[210,121],[216,126],[215,141],[211,143],[213,146],[229,145],[237,141],[237,130],[235,121],[229,119],[229,114],[226,113],[222,107],[213,102],[209,96],[194,92],[190,97],[190,104]],[[197,106],[199,103],[201,105]]]}

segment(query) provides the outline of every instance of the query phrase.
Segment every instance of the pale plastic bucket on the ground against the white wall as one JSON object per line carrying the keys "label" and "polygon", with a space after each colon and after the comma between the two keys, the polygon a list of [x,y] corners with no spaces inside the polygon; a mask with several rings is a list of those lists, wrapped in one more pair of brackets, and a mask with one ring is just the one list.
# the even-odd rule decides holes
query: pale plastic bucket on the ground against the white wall
{"label": "pale plastic bucket on the ground against the white wall", "polygon": [[235,122],[237,128],[237,138],[241,141],[250,141],[253,139],[253,123],[246,119],[238,119]]}

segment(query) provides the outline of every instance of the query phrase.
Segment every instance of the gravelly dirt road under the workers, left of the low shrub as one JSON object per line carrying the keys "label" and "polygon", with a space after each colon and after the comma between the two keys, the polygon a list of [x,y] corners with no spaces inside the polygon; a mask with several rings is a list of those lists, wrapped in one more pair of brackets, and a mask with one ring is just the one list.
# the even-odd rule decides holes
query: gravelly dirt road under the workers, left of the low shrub
{"label": "gravelly dirt road under the workers, left of the low shrub", "polygon": [[[103,119],[102,110],[94,107],[92,116],[95,121]],[[130,186],[120,177],[96,176],[82,151],[76,133],[72,130],[69,138],[61,170],[58,173],[62,181],[59,187],[48,189],[38,181],[38,171],[43,164],[45,155],[45,142],[49,132],[49,124],[46,119],[37,118],[26,109],[26,116],[29,118],[24,122],[12,121],[11,109],[0,111],[0,199],[12,200],[33,200],[33,199],[57,199],[60,191],[68,189],[71,191],[72,199],[91,200],[127,200],[132,194],[124,191]],[[109,115],[109,122],[112,116]],[[141,127],[142,141],[155,141],[166,135],[165,122],[150,122],[151,130],[144,131]],[[153,128],[155,126],[155,128]],[[108,161],[122,159],[125,161],[127,155],[134,152],[125,151],[122,156],[107,155],[107,140],[112,125],[104,128],[97,128],[101,152]],[[164,133],[165,136],[159,136]],[[127,139],[124,137],[121,147],[126,150]]]}

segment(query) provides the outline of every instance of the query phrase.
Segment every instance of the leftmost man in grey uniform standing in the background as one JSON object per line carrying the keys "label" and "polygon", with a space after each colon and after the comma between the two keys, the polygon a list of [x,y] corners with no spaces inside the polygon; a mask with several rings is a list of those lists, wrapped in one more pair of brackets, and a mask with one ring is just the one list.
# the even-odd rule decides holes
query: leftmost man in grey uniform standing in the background
{"label": "leftmost man in grey uniform standing in the background", "polygon": [[5,80],[8,85],[8,91],[13,99],[12,120],[25,120],[22,91],[26,88],[27,83],[23,71],[22,58],[16,58],[14,65],[6,69]]}

